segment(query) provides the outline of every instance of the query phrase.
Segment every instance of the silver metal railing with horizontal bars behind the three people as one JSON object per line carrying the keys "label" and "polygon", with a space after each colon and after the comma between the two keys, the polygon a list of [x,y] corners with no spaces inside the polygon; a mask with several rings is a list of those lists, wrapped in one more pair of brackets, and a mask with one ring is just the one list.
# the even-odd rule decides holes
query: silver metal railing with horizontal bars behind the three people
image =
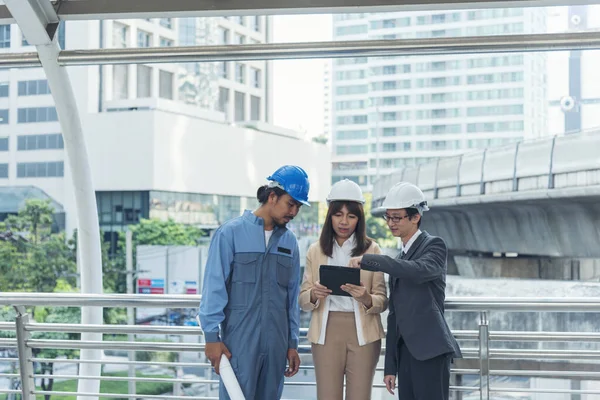
{"label": "silver metal railing with horizontal bars behind the three people", "polygon": [[[169,308],[190,309],[196,308],[200,296],[172,296],[172,295],[80,295],[80,294],[46,294],[46,293],[1,293],[0,305],[11,306],[16,310],[13,322],[0,322],[0,331],[14,331],[16,338],[0,339],[0,348],[16,348],[18,359],[15,357],[0,359],[2,362],[18,363],[18,373],[2,373],[0,378],[20,379],[20,390],[14,388],[1,389],[2,394],[21,394],[23,400],[34,399],[36,395],[77,395],[81,397],[105,398],[136,398],[151,399],[184,399],[194,397],[197,399],[216,399],[214,389],[218,385],[217,377],[212,375],[211,366],[203,360],[198,362],[179,361],[137,361],[137,360],[79,360],[79,359],[52,359],[36,356],[40,350],[45,349],[101,349],[110,351],[134,352],[196,352],[204,350],[201,332],[194,326],[158,326],[158,325],[91,325],[91,324],[62,324],[62,323],[36,323],[32,321],[28,309],[35,306],[44,307],[135,307],[135,308]],[[539,313],[599,313],[600,298],[449,298],[446,310],[454,313],[476,313],[478,318],[473,321],[471,330],[456,330],[454,335],[462,344],[464,359],[456,360],[452,369],[453,384],[451,390],[455,398],[462,398],[461,393],[478,393],[480,399],[490,399],[492,393],[564,393],[571,395],[600,395],[600,390],[585,389],[555,389],[544,387],[505,387],[493,384],[493,377],[529,377],[529,378],[555,378],[571,379],[576,381],[600,380],[600,333],[595,328],[586,332],[547,332],[547,331],[494,331],[494,313],[505,312],[539,312]],[[152,341],[85,341],[64,339],[35,339],[36,333],[83,333],[94,332],[102,334],[136,334],[136,335],[171,335],[174,337],[197,336],[195,343],[170,342],[164,340]],[[306,334],[306,330],[302,330]],[[154,338],[156,339],[156,338]],[[592,348],[510,348],[501,346],[502,343],[575,343],[588,344]],[[475,343],[474,345],[472,343]],[[469,347],[471,344],[472,347]],[[531,346],[530,346],[531,347]],[[304,357],[302,370],[310,372],[314,369],[312,363],[306,362],[310,357],[310,345],[301,344],[300,351]],[[384,354],[385,349],[382,349]],[[126,354],[126,353],[125,353]],[[140,368],[161,367],[179,370],[172,376],[112,376],[106,375],[99,378],[93,376],[80,376],[77,373],[68,374],[40,374],[35,373],[35,365],[39,363],[56,362],[65,365],[79,365],[94,363],[102,365],[135,365]],[[510,362],[517,367],[499,368],[493,363]],[[558,368],[556,362],[563,364],[587,366],[581,370],[571,368]],[[519,364],[520,363],[520,364]],[[500,364],[498,364],[500,365]],[[206,376],[185,377],[181,374],[184,367],[203,369]],[[377,368],[381,374],[382,368]],[[471,384],[463,384],[462,378],[470,377]],[[160,382],[173,385],[173,394],[136,394],[136,393],[80,393],[60,390],[41,390],[36,383],[41,379],[53,378],[59,380],[99,379],[100,381],[127,381],[136,383]],[[314,387],[314,381],[286,380],[288,387]],[[196,390],[195,392],[188,389]],[[384,385],[375,383],[374,388]],[[210,389],[213,389],[211,392]],[[187,390],[187,392],[186,392]],[[213,397],[211,397],[213,396]]]}

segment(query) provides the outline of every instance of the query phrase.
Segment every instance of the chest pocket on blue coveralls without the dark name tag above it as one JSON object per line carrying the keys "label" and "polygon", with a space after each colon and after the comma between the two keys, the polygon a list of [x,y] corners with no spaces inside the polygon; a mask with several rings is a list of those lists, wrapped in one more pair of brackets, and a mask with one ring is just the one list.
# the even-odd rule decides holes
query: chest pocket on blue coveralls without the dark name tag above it
{"label": "chest pocket on blue coveralls without the dark name tag above it", "polygon": [[245,309],[256,284],[257,254],[240,253],[233,257],[228,307]]}

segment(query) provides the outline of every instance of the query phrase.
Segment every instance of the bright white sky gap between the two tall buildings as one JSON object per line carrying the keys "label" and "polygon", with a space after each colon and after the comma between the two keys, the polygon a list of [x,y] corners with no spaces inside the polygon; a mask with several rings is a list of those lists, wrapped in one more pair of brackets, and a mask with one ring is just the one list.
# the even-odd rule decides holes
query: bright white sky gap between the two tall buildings
{"label": "bright white sky gap between the two tall buildings", "polygon": [[[273,17],[273,41],[278,43],[328,41],[331,15]],[[330,60],[273,61],[273,124],[306,132],[323,133],[323,74]]]}

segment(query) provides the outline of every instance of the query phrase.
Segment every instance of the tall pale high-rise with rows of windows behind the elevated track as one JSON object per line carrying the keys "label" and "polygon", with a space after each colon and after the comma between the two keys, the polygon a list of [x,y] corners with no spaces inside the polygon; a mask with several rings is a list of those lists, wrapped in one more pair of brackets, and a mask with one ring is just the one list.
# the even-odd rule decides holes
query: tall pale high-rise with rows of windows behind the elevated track
{"label": "tall pale high-rise with rows of windows behind the elevated track", "polygon": [[[334,40],[543,33],[544,9],[334,16]],[[344,58],[332,70],[332,179],[546,133],[542,53]]]}

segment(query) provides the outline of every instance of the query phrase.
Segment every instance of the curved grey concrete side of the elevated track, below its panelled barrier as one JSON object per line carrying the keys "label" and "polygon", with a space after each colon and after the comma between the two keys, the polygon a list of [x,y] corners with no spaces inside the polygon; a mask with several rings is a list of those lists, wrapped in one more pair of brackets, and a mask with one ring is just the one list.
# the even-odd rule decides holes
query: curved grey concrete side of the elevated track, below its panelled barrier
{"label": "curved grey concrete side of the elevated track, below its panelled barrier", "polygon": [[600,258],[599,199],[513,199],[433,207],[423,228],[443,237],[455,252]]}

